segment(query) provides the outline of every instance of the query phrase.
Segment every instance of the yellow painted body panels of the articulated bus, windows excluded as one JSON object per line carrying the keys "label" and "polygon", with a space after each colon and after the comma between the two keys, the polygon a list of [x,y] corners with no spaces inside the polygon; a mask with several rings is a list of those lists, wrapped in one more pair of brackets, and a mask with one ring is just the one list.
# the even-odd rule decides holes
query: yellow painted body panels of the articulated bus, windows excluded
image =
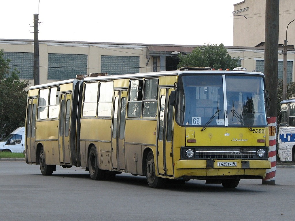
{"label": "yellow painted body panels of the articulated bus, windows excluded", "polygon": [[[174,90],[173,85],[177,80],[177,76],[159,76],[159,86],[168,85],[169,90]],[[98,80],[99,81],[99,80]],[[114,79],[114,88],[127,88],[130,79]],[[55,85],[56,86],[56,85]],[[60,92],[72,91],[73,83],[60,85]],[[164,89],[161,95],[165,95]],[[37,97],[39,89],[28,91],[28,97]],[[84,92],[83,92],[84,93]],[[126,96],[127,95],[127,96]],[[128,93],[126,92],[127,100]],[[159,112],[159,100],[158,96]],[[73,98],[74,99],[74,98]],[[166,98],[168,99],[168,98]],[[112,107],[113,110],[114,107]],[[127,102],[128,108],[128,102]],[[128,110],[126,111],[128,113]],[[113,114],[113,113],[112,113]],[[112,117],[108,118],[86,118],[81,117],[81,125],[78,128],[80,131],[79,144],[81,155],[81,166],[87,167],[88,149],[94,144],[98,151],[98,156],[107,159],[110,156],[110,165],[101,167],[107,170],[113,169],[117,165],[113,165],[115,154],[112,156]],[[171,144],[166,145],[166,152],[163,153],[160,145],[157,142],[159,113],[156,118],[126,118],[125,121],[125,137],[124,137],[124,159],[125,172],[132,174],[143,175],[145,161],[143,153],[146,149],[153,151],[155,158],[156,174],[164,174],[163,165],[166,163],[166,174],[170,175],[166,178],[181,178],[181,177],[214,177],[214,176],[259,176],[265,177],[266,169],[270,168],[270,161],[267,160],[214,160],[213,168],[207,168],[207,160],[181,160],[180,150],[183,146],[268,146],[268,128],[253,128],[253,131],[258,129],[258,133],[250,131],[247,127],[207,127],[201,131],[202,127],[185,127],[173,122],[173,140]],[[59,121],[41,120],[36,122],[35,144],[42,144],[45,151],[46,164],[59,165],[60,158],[63,156],[59,153]],[[259,130],[264,130],[264,133],[259,133]],[[190,142],[188,142],[190,140]],[[194,141],[195,140],[195,141]],[[264,140],[264,142],[258,142]],[[113,146],[112,146],[113,145]],[[171,148],[172,145],[172,148]],[[101,155],[102,154],[102,155]],[[163,159],[166,155],[165,161]],[[237,162],[236,167],[217,167],[217,162]],[[242,161],[249,162],[249,168],[242,168]],[[172,162],[172,163],[171,163]],[[73,162],[72,162],[73,164]],[[112,164],[112,165],[111,165]],[[167,171],[168,170],[168,171]],[[164,177],[164,176],[160,176]]]}

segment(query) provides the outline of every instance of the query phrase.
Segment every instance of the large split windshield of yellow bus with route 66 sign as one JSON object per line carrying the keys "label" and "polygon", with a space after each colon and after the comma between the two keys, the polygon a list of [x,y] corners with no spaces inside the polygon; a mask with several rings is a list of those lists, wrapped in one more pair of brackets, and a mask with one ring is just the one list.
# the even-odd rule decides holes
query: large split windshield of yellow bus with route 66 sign
{"label": "large split windshield of yellow bus with route 66 sign", "polygon": [[186,126],[265,126],[260,76],[183,75],[176,120]]}

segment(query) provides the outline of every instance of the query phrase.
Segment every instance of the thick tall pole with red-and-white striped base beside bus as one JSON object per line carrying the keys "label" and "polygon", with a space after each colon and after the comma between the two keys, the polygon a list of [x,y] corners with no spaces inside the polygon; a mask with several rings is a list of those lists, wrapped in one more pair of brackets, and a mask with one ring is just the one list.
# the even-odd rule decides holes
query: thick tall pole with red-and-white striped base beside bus
{"label": "thick tall pole with red-and-white striped base beside bus", "polygon": [[264,74],[266,90],[271,99],[267,113],[269,128],[268,160],[271,169],[266,170],[266,177],[262,184],[276,184],[276,116],[278,102],[278,21],[279,0],[266,0],[265,7],[265,52]]}

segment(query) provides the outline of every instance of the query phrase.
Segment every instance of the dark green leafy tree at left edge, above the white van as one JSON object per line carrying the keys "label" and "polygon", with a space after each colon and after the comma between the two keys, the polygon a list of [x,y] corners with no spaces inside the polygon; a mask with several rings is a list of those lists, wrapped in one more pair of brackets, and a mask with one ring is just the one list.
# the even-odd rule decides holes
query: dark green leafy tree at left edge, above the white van
{"label": "dark green leafy tree at left edge, above the white van", "polygon": [[19,80],[19,71],[10,71],[10,60],[4,59],[0,49],[0,138],[20,126],[26,118],[27,91],[29,81]]}

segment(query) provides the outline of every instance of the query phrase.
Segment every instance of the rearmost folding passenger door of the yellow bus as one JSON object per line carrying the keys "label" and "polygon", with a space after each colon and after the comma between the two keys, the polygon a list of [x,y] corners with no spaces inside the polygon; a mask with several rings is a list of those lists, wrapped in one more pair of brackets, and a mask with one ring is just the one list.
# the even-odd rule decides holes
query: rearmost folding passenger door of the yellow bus
{"label": "rearmost folding passenger door of the yellow bus", "polygon": [[27,125],[26,125],[26,157],[27,162],[36,162],[36,129],[37,98],[28,100]]}

